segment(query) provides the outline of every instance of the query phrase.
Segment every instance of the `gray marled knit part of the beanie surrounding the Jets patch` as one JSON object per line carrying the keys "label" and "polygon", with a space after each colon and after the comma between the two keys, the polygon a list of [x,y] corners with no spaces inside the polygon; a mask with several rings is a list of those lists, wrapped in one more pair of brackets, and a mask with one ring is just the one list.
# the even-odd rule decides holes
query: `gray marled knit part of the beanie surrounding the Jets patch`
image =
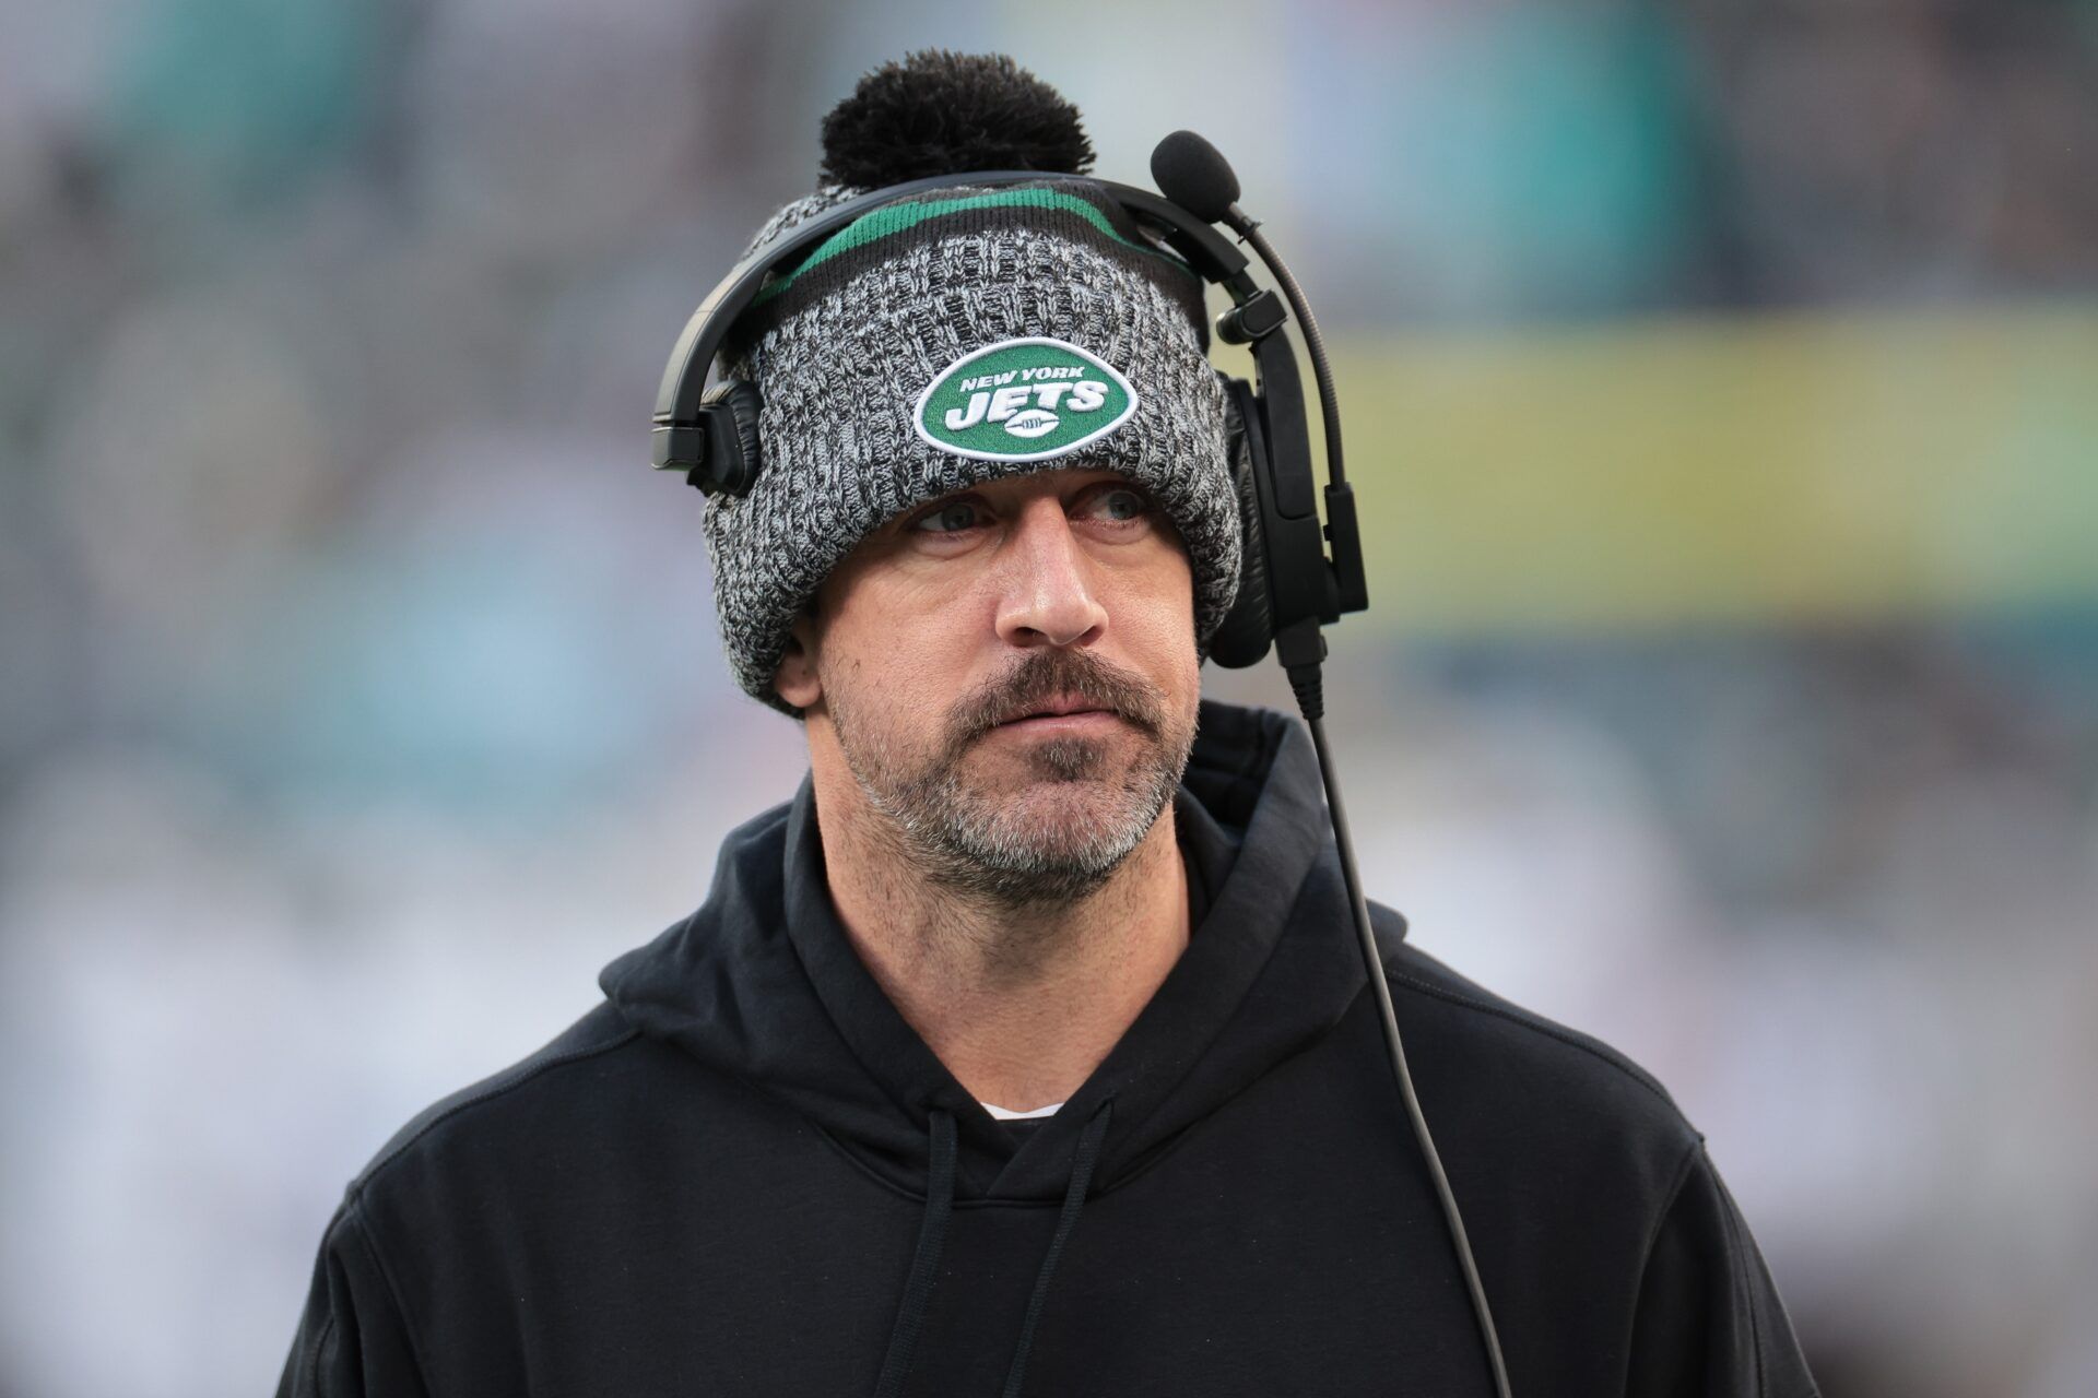
{"label": "gray marled knit part of the beanie surrounding the Jets patch", "polygon": [[[795,199],[751,252],[860,193],[829,184]],[[1152,493],[1187,547],[1196,646],[1206,654],[1232,608],[1242,547],[1225,392],[1206,331],[1125,260],[1028,222],[1015,212],[986,231],[898,239],[871,268],[724,354],[724,373],[764,396],[757,484],[745,497],[709,497],[705,511],[722,648],[753,698],[799,717],[772,687],[789,629],[871,530],[978,482],[1045,469],[1112,469]],[[1066,340],[1114,365],[1137,390],[1135,413],[1041,461],[925,442],[913,428],[919,390],[957,358],[1024,335]]]}

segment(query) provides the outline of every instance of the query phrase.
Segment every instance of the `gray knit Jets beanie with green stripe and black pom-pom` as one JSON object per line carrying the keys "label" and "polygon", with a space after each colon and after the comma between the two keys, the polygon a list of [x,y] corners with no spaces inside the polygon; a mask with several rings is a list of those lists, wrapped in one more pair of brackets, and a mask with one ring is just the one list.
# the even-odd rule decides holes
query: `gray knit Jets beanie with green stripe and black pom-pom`
{"label": "gray knit Jets beanie with green stripe and black pom-pom", "polygon": [[1043,178],[877,207],[736,321],[722,367],[764,398],[762,469],[705,511],[736,683],[799,717],[772,687],[789,629],[860,539],[978,482],[1064,467],[1120,472],[1173,520],[1206,654],[1238,589],[1240,516],[1204,283],[1118,203],[1057,178],[1091,166],[1078,111],[1003,54],[925,50],[869,73],[822,134],[818,189],[745,256],[871,189]]}

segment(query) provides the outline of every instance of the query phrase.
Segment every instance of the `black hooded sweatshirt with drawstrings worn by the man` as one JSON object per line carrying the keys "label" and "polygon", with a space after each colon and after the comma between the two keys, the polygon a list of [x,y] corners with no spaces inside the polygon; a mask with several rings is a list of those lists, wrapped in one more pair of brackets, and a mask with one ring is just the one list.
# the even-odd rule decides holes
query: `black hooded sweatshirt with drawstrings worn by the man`
{"label": "black hooded sweatshirt with drawstrings worn by the man", "polygon": [[[1177,824],[1185,954],[1020,1126],[854,954],[804,782],[350,1184],[279,1394],[1490,1394],[1309,734],[1204,704]],[[1513,1392],[1813,1394],[1668,1094],[1372,914]]]}

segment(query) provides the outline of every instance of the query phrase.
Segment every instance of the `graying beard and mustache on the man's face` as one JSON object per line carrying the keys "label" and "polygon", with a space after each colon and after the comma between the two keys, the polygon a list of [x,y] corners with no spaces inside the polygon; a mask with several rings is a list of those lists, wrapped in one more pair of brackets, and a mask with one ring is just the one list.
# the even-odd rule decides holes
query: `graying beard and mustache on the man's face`
{"label": "graying beard and mustache on the man's face", "polygon": [[[1076,650],[1030,652],[963,696],[925,757],[862,721],[858,696],[839,704],[831,685],[825,692],[845,765],[898,853],[932,882],[1001,908],[1068,905],[1097,893],[1158,824],[1194,748],[1194,713],[1171,713],[1154,685]],[[1053,696],[1118,715],[1141,740],[1137,757],[1120,757],[1122,734],[1057,734],[1026,740],[1005,759],[1022,767],[1018,786],[986,786],[963,771],[1005,717]]]}

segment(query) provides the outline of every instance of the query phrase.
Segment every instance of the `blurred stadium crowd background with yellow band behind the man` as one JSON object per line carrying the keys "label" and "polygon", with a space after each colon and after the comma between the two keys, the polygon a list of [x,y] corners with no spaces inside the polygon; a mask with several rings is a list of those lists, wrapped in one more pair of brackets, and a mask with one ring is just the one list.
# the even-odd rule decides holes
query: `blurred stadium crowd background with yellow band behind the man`
{"label": "blurred stadium crowd background with yellow band behind the man", "polygon": [[1662,1077],[1832,1398],[2098,1394],[2092,0],[0,10],[0,1394],[269,1392],[791,794],[648,411],[921,46],[1211,136],[1334,337],[1372,897]]}

